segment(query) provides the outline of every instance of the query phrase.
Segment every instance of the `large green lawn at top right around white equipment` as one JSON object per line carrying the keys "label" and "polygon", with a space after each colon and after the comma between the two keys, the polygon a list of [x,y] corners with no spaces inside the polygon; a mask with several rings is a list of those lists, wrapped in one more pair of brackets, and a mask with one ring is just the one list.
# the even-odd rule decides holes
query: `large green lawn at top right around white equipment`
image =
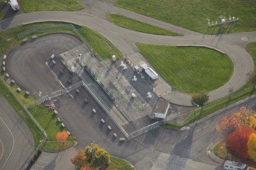
{"label": "large green lawn at top right around white equipment", "polygon": [[255,0],[117,0],[115,5],[205,34],[223,32],[222,29],[208,28],[207,18],[211,22],[220,21],[220,15],[224,13],[226,19],[229,15],[240,18],[239,22],[228,26],[226,32],[256,30]]}

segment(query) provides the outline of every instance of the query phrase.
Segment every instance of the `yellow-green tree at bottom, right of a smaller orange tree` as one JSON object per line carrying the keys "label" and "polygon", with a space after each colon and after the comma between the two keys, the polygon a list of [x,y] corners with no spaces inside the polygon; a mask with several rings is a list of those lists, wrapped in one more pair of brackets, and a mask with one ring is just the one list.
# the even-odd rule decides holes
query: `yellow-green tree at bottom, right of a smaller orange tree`
{"label": "yellow-green tree at bottom, right of a smaller orange tree", "polygon": [[86,146],[86,156],[93,167],[100,167],[103,169],[110,162],[108,152],[94,143]]}

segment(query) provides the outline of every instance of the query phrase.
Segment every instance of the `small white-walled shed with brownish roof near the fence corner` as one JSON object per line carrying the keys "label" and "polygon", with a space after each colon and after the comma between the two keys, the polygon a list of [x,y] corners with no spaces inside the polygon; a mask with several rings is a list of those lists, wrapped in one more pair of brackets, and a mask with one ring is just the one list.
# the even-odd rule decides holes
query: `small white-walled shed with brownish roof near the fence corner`
{"label": "small white-walled shed with brownish roof near the fence corner", "polygon": [[156,106],[156,110],[154,112],[154,116],[157,119],[164,119],[166,118],[168,109],[170,108],[170,103],[165,100],[159,100],[158,105]]}

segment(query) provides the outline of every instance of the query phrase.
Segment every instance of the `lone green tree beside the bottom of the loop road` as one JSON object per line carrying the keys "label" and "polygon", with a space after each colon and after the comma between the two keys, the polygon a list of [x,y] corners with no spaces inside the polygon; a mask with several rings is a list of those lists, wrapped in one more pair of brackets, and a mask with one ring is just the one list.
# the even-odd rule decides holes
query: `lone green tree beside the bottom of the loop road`
{"label": "lone green tree beside the bottom of the loop road", "polygon": [[193,93],[191,96],[191,104],[199,105],[201,107],[201,112],[203,112],[203,105],[209,100],[209,94],[205,91],[199,93]]}

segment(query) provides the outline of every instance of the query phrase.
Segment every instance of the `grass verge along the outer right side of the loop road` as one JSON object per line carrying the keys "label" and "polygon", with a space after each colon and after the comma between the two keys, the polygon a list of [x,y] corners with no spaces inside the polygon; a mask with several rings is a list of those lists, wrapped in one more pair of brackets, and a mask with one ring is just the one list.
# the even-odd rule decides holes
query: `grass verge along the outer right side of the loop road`
{"label": "grass verge along the outer right side of the loop road", "polygon": [[[256,42],[251,42],[247,44],[246,46],[247,52],[251,54],[253,58],[253,62],[256,63]],[[254,71],[256,70],[256,65],[254,65]],[[241,99],[245,99],[246,97],[253,95],[256,93],[256,91],[253,90],[253,84],[247,83],[237,91],[234,91],[231,93],[231,95],[228,95],[226,97],[223,97],[222,99],[218,99],[216,101],[213,101],[211,103],[207,103],[203,108],[203,113],[201,113],[200,109],[195,110],[196,114],[196,120],[199,120],[207,115],[212,114],[213,112],[216,112],[217,110],[220,110],[222,108],[225,108],[227,105],[230,105],[232,103],[235,103],[236,101],[239,101]],[[186,126],[188,124],[191,124],[194,122],[194,114],[193,112],[187,117],[187,119],[180,124],[165,124],[165,128],[181,128],[182,126]]]}

